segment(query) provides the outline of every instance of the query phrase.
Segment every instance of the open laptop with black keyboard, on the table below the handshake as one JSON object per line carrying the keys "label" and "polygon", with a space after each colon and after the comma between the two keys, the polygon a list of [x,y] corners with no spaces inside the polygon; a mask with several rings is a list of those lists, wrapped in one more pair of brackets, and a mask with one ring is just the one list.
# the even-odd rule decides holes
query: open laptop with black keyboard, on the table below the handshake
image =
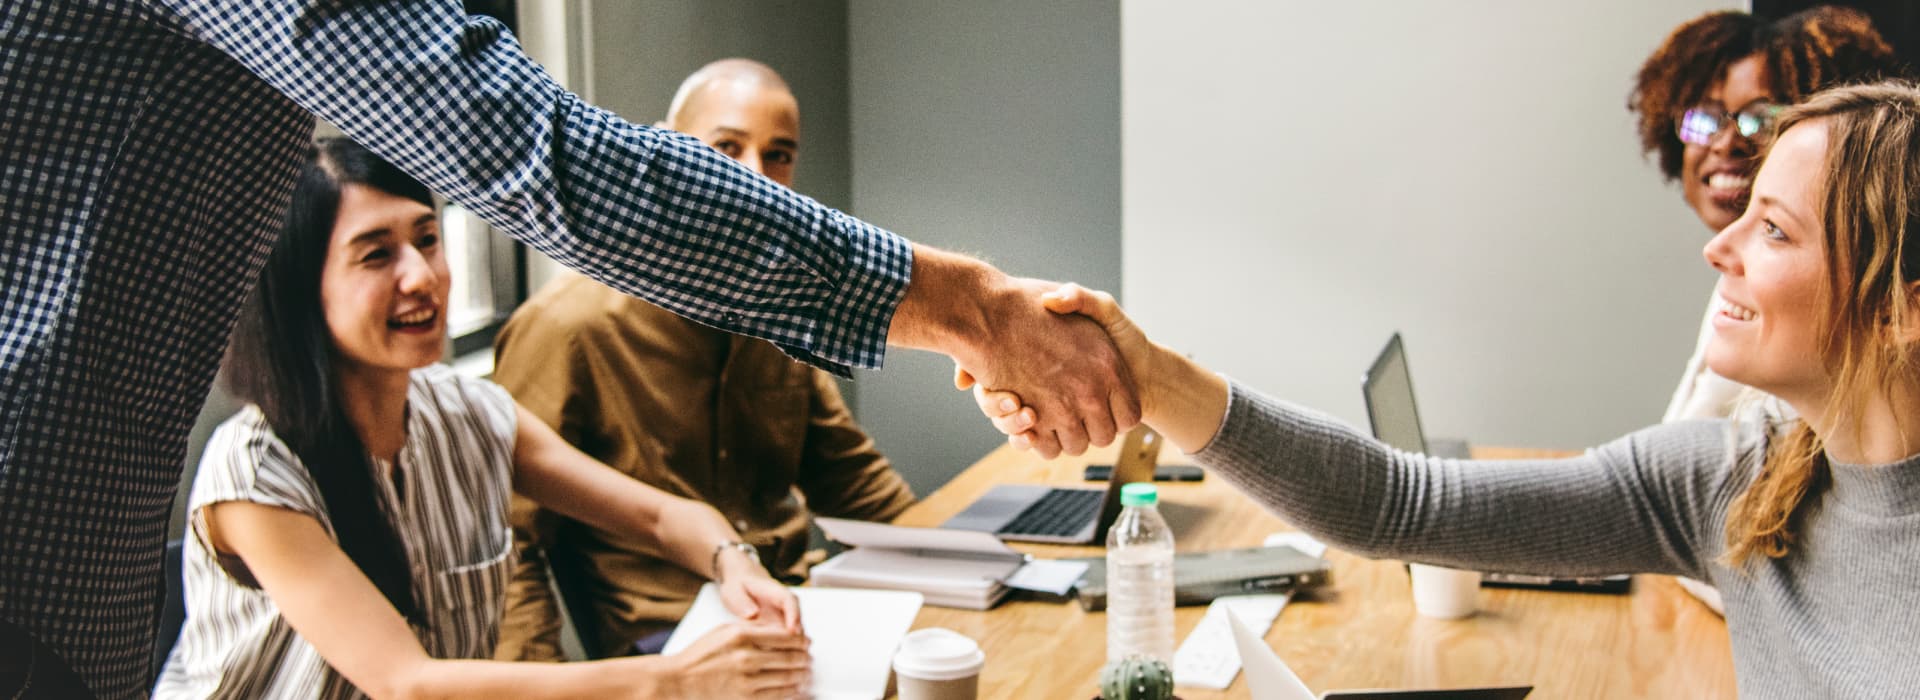
{"label": "open laptop with black keyboard, on the table below the handshake", "polygon": [[1068,489],[1002,483],[941,527],[995,533],[1023,543],[1102,545],[1119,516],[1119,487],[1154,481],[1160,433],[1139,426],[1127,433],[1106,489]]}

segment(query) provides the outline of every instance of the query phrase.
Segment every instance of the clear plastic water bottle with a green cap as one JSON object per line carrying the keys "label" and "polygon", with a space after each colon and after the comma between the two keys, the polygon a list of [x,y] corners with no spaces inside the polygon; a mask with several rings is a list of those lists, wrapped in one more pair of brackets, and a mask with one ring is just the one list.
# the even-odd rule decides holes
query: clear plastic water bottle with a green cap
{"label": "clear plastic water bottle with a green cap", "polygon": [[1152,483],[1119,489],[1125,510],[1106,531],[1106,660],[1152,656],[1173,665],[1173,529]]}

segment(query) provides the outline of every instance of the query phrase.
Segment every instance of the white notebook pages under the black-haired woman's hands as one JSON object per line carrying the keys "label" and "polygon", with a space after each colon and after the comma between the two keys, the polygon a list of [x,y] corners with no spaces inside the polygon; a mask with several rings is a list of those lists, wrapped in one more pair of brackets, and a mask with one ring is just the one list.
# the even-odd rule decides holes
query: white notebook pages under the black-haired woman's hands
{"label": "white notebook pages under the black-haired woman's hands", "polygon": [[[900,637],[920,614],[920,595],[908,591],[791,589],[801,598],[801,625],[812,641],[812,696],[818,700],[877,700]],[[701,587],[693,608],[668,637],[662,654],[678,654],[714,627],[735,621],[720,589]]]}

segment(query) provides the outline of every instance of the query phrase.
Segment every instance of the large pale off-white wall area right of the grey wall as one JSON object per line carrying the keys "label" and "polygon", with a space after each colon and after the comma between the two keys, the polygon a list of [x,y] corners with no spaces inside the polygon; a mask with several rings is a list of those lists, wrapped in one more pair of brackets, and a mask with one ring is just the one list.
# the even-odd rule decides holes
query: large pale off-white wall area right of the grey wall
{"label": "large pale off-white wall area right of the grey wall", "polygon": [[1674,25],[1740,6],[1127,0],[1125,301],[1359,426],[1396,328],[1428,433],[1657,422],[1715,274],[1626,90]]}

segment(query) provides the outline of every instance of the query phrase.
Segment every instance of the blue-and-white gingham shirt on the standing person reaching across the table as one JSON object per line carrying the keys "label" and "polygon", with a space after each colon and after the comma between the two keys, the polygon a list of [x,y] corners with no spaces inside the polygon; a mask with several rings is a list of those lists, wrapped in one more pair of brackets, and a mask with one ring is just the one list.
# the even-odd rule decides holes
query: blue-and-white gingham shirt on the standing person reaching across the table
{"label": "blue-and-white gingham shirt on the standing person reaching across the table", "polygon": [[186,433],[309,111],[622,292],[881,362],[902,238],[580,102],[457,0],[0,2],[0,623],[102,696],[152,679]]}

